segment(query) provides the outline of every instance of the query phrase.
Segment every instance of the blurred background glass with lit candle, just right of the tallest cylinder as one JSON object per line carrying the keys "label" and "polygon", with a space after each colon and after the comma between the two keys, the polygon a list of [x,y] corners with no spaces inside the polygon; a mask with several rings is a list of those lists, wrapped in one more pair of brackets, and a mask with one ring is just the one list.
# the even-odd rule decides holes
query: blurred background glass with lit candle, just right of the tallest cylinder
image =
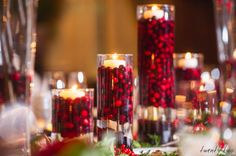
{"label": "blurred background glass with lit candle, just right of the tallest cylinder", "polygon": [[203,55],[190,52],[174,54],[176,103],[184,99],[190,109],[201,86]]}

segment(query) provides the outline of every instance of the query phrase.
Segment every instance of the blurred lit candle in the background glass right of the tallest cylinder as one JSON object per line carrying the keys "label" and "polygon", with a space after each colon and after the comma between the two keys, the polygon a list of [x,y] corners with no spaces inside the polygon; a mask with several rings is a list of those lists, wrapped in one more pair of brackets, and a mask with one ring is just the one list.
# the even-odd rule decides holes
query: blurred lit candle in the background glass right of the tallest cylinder
{"label": "blurred lit candle in the background glass right of the tallest cylinder", "polygon": [[198,60],[196,58],[193,58],[190,52],[187,52],[185,54],[184,59],[180,59],[178,61],[178,67],[196,68],[197,66],[198,66]]}

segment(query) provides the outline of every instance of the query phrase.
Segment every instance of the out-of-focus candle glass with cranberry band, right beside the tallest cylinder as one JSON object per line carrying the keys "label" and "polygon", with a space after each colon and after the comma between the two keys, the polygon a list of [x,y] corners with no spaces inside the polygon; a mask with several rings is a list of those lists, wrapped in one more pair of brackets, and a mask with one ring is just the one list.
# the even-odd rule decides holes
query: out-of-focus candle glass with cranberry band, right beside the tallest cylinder
{"label": "out-of-focus candle glass with cranberry band, right beside the tallest cylinder", "polygon": [[[180,120],[192,124],[199,110],[199,91],[203,72],[203,55],[197,53],[174,54],[177,115]],[[194,119],[195,118],[195,119]]]}

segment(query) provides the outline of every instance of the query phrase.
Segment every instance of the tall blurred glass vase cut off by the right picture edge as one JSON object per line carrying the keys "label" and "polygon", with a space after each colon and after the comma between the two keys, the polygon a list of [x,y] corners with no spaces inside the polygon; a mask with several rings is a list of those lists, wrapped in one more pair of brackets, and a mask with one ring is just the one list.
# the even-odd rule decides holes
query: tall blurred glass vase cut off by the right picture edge
{"label": "tall blurred glass vase cut off by the right picture edge", "polygon": [[[236,51],[234,50],[234,1],[214,0],[218,59],[221,67],[222,139],[229,142],[236,128]],[[236,131],[235,131],[236,133]],[[230,137],[229,137],[230,136]]]}

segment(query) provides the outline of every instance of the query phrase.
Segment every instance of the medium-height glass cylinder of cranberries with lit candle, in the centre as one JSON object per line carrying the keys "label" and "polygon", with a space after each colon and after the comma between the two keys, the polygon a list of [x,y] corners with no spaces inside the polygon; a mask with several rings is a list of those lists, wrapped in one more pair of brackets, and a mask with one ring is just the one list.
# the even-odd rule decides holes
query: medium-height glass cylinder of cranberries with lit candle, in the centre
{"label": "medium-height glass cylinder of cranberries with lit candle, in the centre", "polygon": [[117,144],[131,147],[133,123],[133,55],[99,54],[97,75],[98,140],[108,132]]}

